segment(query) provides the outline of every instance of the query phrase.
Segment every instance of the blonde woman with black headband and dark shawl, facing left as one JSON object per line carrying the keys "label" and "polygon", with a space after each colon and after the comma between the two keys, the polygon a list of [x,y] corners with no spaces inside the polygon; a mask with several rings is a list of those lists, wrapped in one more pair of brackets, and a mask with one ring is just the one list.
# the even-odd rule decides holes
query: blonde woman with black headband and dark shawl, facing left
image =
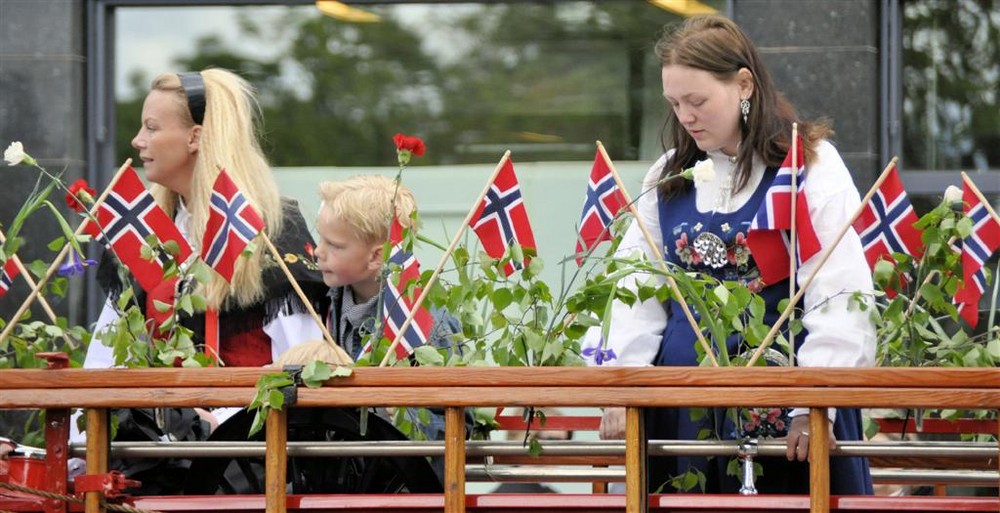
{"label": "blonde woman with black headband and dark shawl, facing left", "polygon": [[[268,236],[285,255],[299,284],[318,303],[326,288],[311,257],[306,257],[313,241],[298,207],[278,194],[257,141],[258,113],[253,89],[235,73],[222,69],[165,73],[153,80],[132,147],[139,152],[153,196],[195,253],[207,224],[212,185],[219,169],[225,169],[264,219]],[[113,267],[102,265],[100,281],[110,297],[97,329],[119,315],[112,299],[123,284]],[[223,365],[266,365],[300,342],[322,338],[320,328],[266,251],[241,257],[232,284],[213,274],[211,282],[199,285],[197,291],[206,298],[208,310],[218,312]],[[162,291],[158,292],[155,295],[161,298]],[[167,296],[172,293],[167,291]],[[139,300],[145,305],[144,297]],[[206,321],[204,312],[183,320],[195,332],[196,345],[204,343],[206,322],[216,323],[213,315]],[[86,367],[112,364],[110,348],[91,344]]]}

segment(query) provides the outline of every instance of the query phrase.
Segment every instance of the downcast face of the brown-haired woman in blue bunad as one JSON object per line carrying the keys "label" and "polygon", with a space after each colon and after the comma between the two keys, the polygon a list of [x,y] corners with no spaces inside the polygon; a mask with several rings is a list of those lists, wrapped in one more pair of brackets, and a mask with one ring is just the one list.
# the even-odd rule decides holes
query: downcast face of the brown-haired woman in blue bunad
{"label": "downcast face of the brown-haired woman in blue bunad", "polygon": [[675,64],[663,67],[663,97],[703,151],[736,155],[741,138],[740,99],[749,96],[739,79],[723,82],[704,70]]}

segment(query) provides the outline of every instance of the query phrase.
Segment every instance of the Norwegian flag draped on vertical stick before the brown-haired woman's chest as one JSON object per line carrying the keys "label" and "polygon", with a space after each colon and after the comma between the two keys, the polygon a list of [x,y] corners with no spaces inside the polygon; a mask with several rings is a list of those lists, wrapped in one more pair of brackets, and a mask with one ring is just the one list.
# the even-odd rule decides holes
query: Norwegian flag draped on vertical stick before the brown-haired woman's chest
{"label": "Norwegian flag draped on vertical stick before the brown-haired woman's chest", "polygon": [[[798,245],[799,264],[819,253],[821,245],[809,216],[809,202],[803,190],[805,165],[802,163],[802,139],[796,138],[798,155],[798,176],[795,206],[795,229]],[[785,230],[792,227],[792,150],[789,148],[785,161],[771,182],[760,209],[750,224],[747,245],[753,255],[760,278],[767,285],[788,277],[789,238]]]}

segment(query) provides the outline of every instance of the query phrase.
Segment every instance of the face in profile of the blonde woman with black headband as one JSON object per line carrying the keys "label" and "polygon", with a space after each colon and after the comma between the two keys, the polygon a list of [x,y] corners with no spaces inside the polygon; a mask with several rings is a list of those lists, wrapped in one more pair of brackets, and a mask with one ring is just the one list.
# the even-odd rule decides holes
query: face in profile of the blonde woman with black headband
{"label": "face in profile of the blonde woman with black headband", "polygon": [[146,178],[187,197],[198,157],[201,126],[190,126],[176,93],[150,91],[142,104],[142,126],[132,139]]}

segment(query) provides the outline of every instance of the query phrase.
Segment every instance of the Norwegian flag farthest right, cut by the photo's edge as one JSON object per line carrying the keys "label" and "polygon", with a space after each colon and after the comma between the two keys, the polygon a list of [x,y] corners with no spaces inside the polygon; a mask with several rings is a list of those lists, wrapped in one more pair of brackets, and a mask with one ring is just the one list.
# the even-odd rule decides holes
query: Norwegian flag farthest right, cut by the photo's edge
{"label": "Norwegian flag farthest right, cut by the photo's edge", "polygon": [[965,215],[972,219],[972,233],[961,242],[962,285],[955,291],[955,304],[962,318],[975,328],[979,322],[979,298],[986,291],[983,265],[1000,248],[1000,223],[990,215],[968,182],[963,185],[962,201]]}

